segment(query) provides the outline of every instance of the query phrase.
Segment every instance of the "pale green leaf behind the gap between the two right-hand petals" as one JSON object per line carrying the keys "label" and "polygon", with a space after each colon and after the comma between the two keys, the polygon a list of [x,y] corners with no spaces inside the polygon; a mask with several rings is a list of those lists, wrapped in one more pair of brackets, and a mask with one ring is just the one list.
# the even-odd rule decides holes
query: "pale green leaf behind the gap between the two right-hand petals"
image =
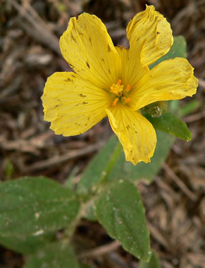
{"label": "pale green leaf behind the gap between the two right-hand petals", "polygon": [[149,66],[149,69],[152,69],[155,67],[155,65],[158,65],[163,60],[169,60],[169,58],[175,58],[175,57],[182,57],[186,58],[186,40],[184,39],[184,36],[176,36],[173,38],[173,45],[171,46],[171,49],[169,52],[162,56],[159,60],[157,60],[155,63]]}

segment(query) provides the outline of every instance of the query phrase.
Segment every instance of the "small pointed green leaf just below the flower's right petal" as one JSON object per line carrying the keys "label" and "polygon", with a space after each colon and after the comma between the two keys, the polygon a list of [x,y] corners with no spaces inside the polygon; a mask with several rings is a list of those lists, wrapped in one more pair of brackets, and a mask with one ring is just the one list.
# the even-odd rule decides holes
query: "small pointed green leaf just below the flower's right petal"
{"label": "small pointed green leaf just below the flower's right petal", "polygon": [[153,124],[155,129],[172,134],[180,139],[185,139],[186,141],[191,140],[191,132],[188,127],[173,113],[162,113],[158,117],[152,117],[147,113],[144,116]]}

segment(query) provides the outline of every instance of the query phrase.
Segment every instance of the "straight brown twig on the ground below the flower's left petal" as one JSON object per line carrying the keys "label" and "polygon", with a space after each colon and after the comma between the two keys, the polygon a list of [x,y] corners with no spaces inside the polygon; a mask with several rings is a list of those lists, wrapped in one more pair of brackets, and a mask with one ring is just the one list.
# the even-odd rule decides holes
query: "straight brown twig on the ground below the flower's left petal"
{"label": "straight brown twig on the ground below the flower's left petal", "polygon": [[103,144],[104,144],[104,142],[98,142],[96,144],[89,145],[85,148],[81,148],[78,150],[72,150],[72,152],[65,153],[64,155],[58,155],[58,156],[54,156],[54,157],[47,159],[47,160],[44,160],[44,161],[36,162],[35,164],[32,164],[28,168],[25,167],[25,169],[23,171],[29,172],[29,171],[33,171],[33,170],[41,170],[43,168],[47,168],[48,166],[60,164],[60,163],[63,163],[67,160],[74,159],[76,157],[81,157],[81,156],[87,155],[89,153],[94,153],[96,150],[101,148]]}

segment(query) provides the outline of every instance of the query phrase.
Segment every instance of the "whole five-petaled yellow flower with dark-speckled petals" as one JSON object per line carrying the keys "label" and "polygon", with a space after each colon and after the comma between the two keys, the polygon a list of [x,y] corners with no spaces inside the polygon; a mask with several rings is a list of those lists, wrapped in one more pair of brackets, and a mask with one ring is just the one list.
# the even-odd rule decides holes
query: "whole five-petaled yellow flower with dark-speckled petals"
{"label": "whole five-petaled yellow flower with dark-speckled petals", "polygon": [[60,47],[74,72],[50,76],[42,100],[45,120],[56,134],[78,135],[108,116],[126,160],[136,165],[149,162],[156,145],[155,129],[140,109],[193,96],[197,79],[184,58],[164,60],[149,70],[173,44],[170,24],[153,5],[129,22],[127,38],[129,49],[115,47],[97,16],[71,18]]}

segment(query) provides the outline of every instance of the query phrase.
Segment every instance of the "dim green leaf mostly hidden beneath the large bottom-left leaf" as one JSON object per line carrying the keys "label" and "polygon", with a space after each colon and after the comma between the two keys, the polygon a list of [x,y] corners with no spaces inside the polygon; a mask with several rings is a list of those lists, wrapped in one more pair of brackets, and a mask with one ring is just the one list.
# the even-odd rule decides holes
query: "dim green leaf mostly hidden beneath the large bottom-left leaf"
{"label": "dim green leaf mostly hidden beneath the large bottom-left leaf", "polygon": [[21,254],[33,254],[54,239],[53,234],[43,236],[0,236],[0,244]]}

